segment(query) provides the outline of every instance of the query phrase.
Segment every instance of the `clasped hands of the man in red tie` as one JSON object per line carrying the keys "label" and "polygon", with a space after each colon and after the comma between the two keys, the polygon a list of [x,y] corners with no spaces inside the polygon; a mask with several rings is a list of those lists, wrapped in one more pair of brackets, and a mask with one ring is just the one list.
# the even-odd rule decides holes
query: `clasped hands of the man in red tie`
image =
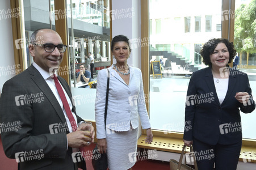
{"label": "clasped hands of the man in red tie", "polygon": [[87,142],[91,142],[91,134],[87,131],[77,130],[66,135],[68,138],[68,146],[79,148],[89,146]]}

